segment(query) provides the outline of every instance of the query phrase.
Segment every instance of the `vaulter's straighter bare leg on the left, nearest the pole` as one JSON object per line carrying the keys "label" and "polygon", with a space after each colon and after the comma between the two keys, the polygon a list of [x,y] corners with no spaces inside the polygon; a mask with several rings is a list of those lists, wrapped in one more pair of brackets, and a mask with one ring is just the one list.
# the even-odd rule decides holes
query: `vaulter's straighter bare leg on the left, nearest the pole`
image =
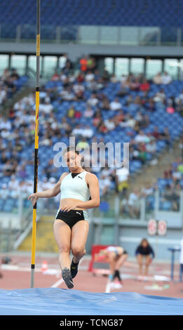
{"label": "vaulter's straighter bare leg on the left, nearest the pole", "polygon": [[53,232],[59,249],[60,268],[61,270],[65,267],[70,269],[71,260],[69,258],[69,253],[71,249],[71,229],[64,221],[55,220]]}

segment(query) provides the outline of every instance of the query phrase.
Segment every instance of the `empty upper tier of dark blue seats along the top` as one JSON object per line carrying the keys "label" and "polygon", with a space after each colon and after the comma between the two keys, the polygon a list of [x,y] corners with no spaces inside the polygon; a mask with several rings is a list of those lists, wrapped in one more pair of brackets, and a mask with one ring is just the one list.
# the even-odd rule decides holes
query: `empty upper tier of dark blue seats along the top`
{"label": "empty upper tier of dark blue seats along the top", "polygon": [[[23,6],[22,6],[23,4]],[[55,11],[55,5],[57,11]],[[134,0],[106,1],[93,0],[90,5],[81,0],[60,0],[55,4],[45,0],[41,4],[42,25],[114,25],[114,26],[163,26],[177,27],[182,26],[182,19],[177,15],[177,11],[182,11],[180,1],[154,2]],[[164,8],[166,15],[161,15],[161,9]],[[34,0],[8,1],[7,4],[1,4],[0,21],[2,25],[8,24],[36,24],[35,13],[36,3]],[[67,14],[67,15],[66,15]],[[8,32],[13,33],[13,30]]]}

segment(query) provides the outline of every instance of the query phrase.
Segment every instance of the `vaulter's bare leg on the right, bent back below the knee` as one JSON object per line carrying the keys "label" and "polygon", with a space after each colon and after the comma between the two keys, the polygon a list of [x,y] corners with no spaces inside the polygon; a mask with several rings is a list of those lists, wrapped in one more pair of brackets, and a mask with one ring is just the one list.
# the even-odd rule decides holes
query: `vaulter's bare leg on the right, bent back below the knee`
{"label": "vaulter's bare leg on the right, bent back below the knee", "polygon": [[85,245],[88,237],[89,224],[86,220],[78,221],[72,227],[71,233],[71,249],[74,256],[74,263],[79,263],[79,260],[85,255]]}

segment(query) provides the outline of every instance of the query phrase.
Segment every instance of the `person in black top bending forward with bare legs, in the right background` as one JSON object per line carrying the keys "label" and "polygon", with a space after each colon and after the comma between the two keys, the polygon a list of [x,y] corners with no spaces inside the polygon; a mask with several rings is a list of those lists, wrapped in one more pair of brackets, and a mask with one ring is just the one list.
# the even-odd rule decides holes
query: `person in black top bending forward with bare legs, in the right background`
{"label": "person in black top bending forward with bare legs, in the right background", "polygon": [[142,279],[142,265],[143,259],[145,258],[144,277],[146,278],[149,270],[149,265],[151,263],[152,258],[154,258],[154,250],[149,245],[147,239],[142,239],[140,245],[137,246],[135,256],[137,256],[137,263],[139,265],[139,279]]}

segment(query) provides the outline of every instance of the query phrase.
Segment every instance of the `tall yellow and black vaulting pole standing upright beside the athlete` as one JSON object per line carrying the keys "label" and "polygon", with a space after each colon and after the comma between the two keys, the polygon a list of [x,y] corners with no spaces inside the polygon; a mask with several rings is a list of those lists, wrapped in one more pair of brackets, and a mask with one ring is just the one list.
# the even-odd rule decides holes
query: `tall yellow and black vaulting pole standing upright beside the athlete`
{"label": "tall yellow and black vaulting pole standing upright beside the athlete", "polygon": [[[34,147],[34,193],[37,192],[38,150],[39,150],[39,59],[40,59],[40,0],[36,0],[36,116],[35,116],[35,147]],[[34,288],[34,269],[36,254],[36,204],[32,216],[32,260],[31,288]]]}

